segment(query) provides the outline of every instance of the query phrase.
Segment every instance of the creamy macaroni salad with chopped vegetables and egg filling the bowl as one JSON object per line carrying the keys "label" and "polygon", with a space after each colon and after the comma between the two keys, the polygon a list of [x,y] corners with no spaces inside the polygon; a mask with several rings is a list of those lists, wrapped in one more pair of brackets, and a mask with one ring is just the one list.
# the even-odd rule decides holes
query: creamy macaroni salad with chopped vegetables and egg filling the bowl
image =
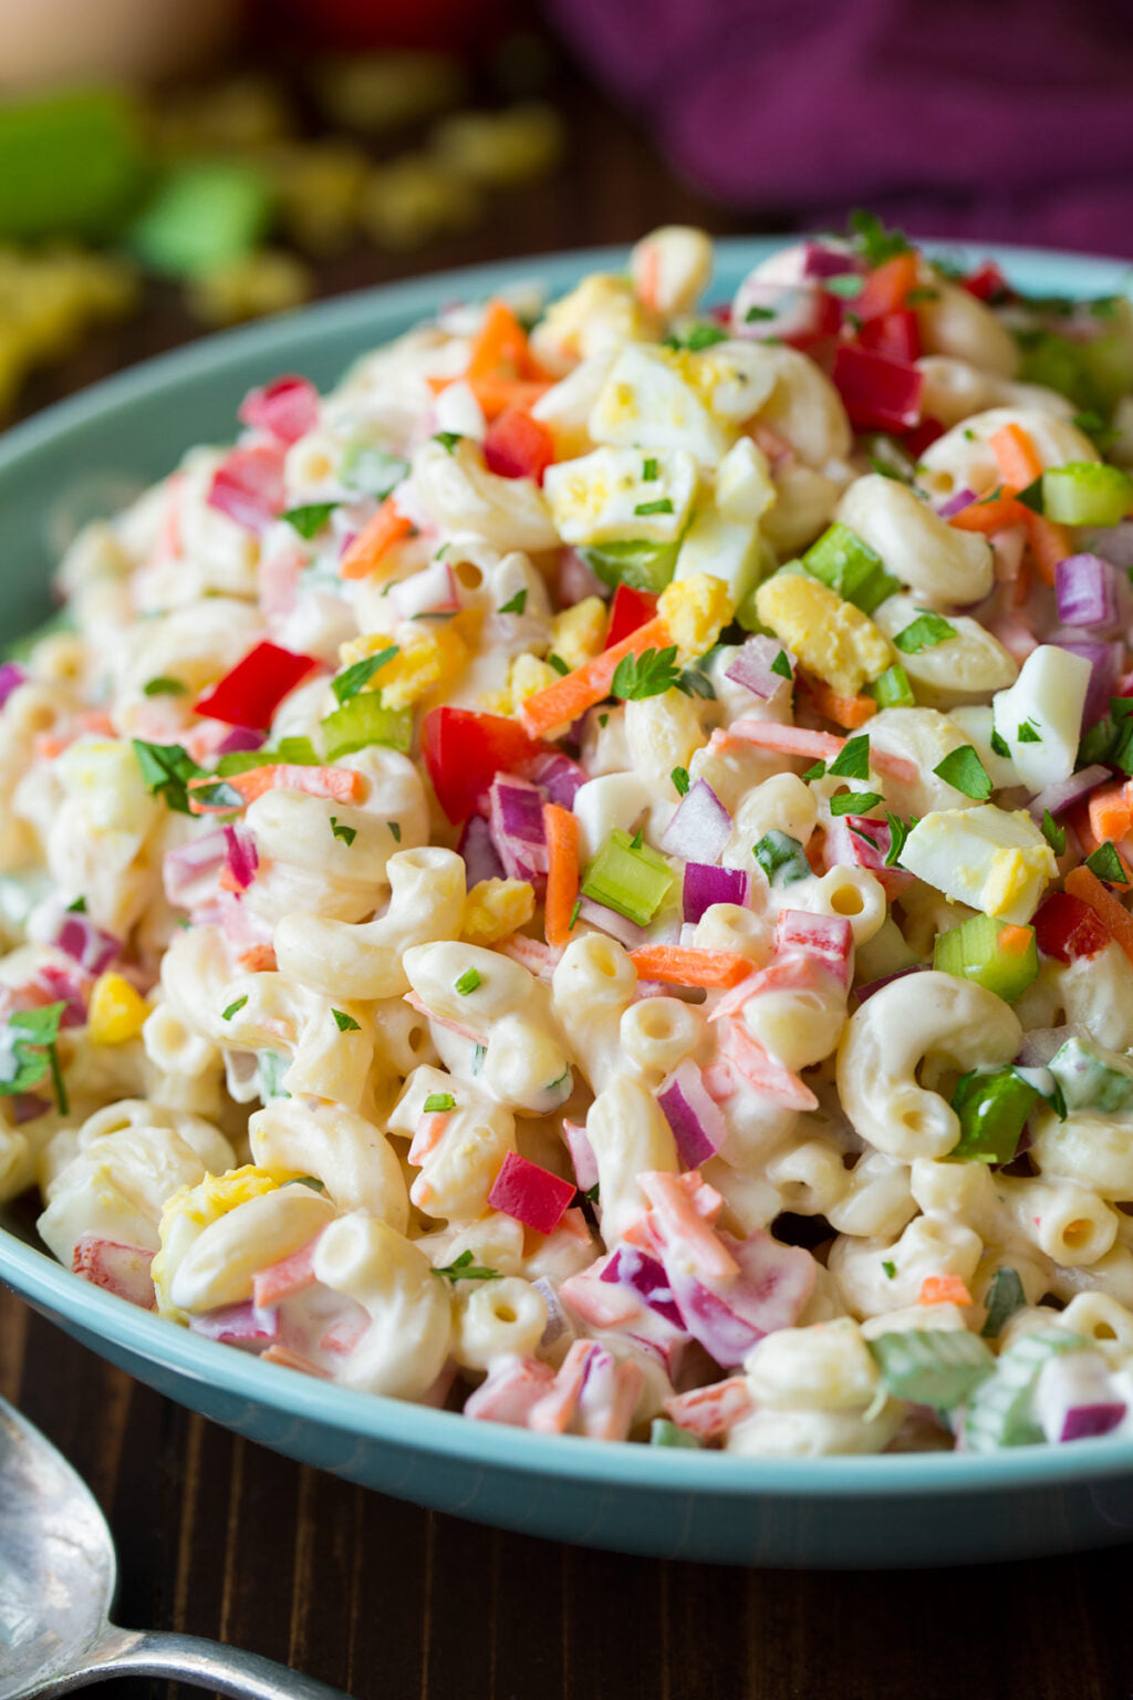
{"label": "creamy macaroni salad with chopped vegetables and egg filling the bowl", "polygon": [[0,668],[0,1197],[170,1324],[734,1454],[1133,1433],[1133,313],[856,214],[455,304]]}

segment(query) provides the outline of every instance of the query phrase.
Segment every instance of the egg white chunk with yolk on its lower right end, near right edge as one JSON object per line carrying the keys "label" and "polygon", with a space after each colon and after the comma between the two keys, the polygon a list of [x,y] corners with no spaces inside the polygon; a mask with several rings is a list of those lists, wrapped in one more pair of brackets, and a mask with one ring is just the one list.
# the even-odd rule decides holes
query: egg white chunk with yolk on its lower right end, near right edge
{"label": "egg white chunk with yolk on its lower right end, near right edge", "polygon": [[970,903],[1023,925],[1055,879],[1055,853],[1029,814],[994,802],[938,809],[917,821],[900,852],[902,867],[955,903]]}

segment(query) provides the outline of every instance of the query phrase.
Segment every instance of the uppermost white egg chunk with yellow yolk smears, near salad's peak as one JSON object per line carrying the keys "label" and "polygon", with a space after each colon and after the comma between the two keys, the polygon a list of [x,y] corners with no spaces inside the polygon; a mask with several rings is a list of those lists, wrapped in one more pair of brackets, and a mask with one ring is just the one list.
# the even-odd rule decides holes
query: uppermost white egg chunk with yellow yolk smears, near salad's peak
{"label": "uppermost white egg chunk with yellow yolk smears, near salad's peak", "polygon": [[589,435],[615,447],[683,449],[700,466],[715,466],[732,432],[686,382],[679,355],[637,343],[610,367],[589,415]]}

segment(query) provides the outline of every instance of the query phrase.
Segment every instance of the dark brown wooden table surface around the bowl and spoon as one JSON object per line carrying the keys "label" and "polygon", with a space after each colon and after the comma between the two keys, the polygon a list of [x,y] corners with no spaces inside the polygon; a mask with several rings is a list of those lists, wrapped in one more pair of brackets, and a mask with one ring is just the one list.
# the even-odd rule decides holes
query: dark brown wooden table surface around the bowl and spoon
{"label": "dark brown wooden table surface around the bowl and spoon", "polygon": [[[751,228],[617,114],[566,95],[571,167],[333,294],[508,253]],[[27,405],[182,342],[170,294]],[[119,1545],[119,1620],[251,1647],[367,1700],[1121,1700],[1130,1549],[995,1569],[793,1574],[662,1564],[479,1528],[302,1469],[190,1416],[0,1292],[0,1394],[71,1459]],[[112,1683],[138,1697],[143,1683]],[[160,1690],[161,1685],[153,1685]]]}

